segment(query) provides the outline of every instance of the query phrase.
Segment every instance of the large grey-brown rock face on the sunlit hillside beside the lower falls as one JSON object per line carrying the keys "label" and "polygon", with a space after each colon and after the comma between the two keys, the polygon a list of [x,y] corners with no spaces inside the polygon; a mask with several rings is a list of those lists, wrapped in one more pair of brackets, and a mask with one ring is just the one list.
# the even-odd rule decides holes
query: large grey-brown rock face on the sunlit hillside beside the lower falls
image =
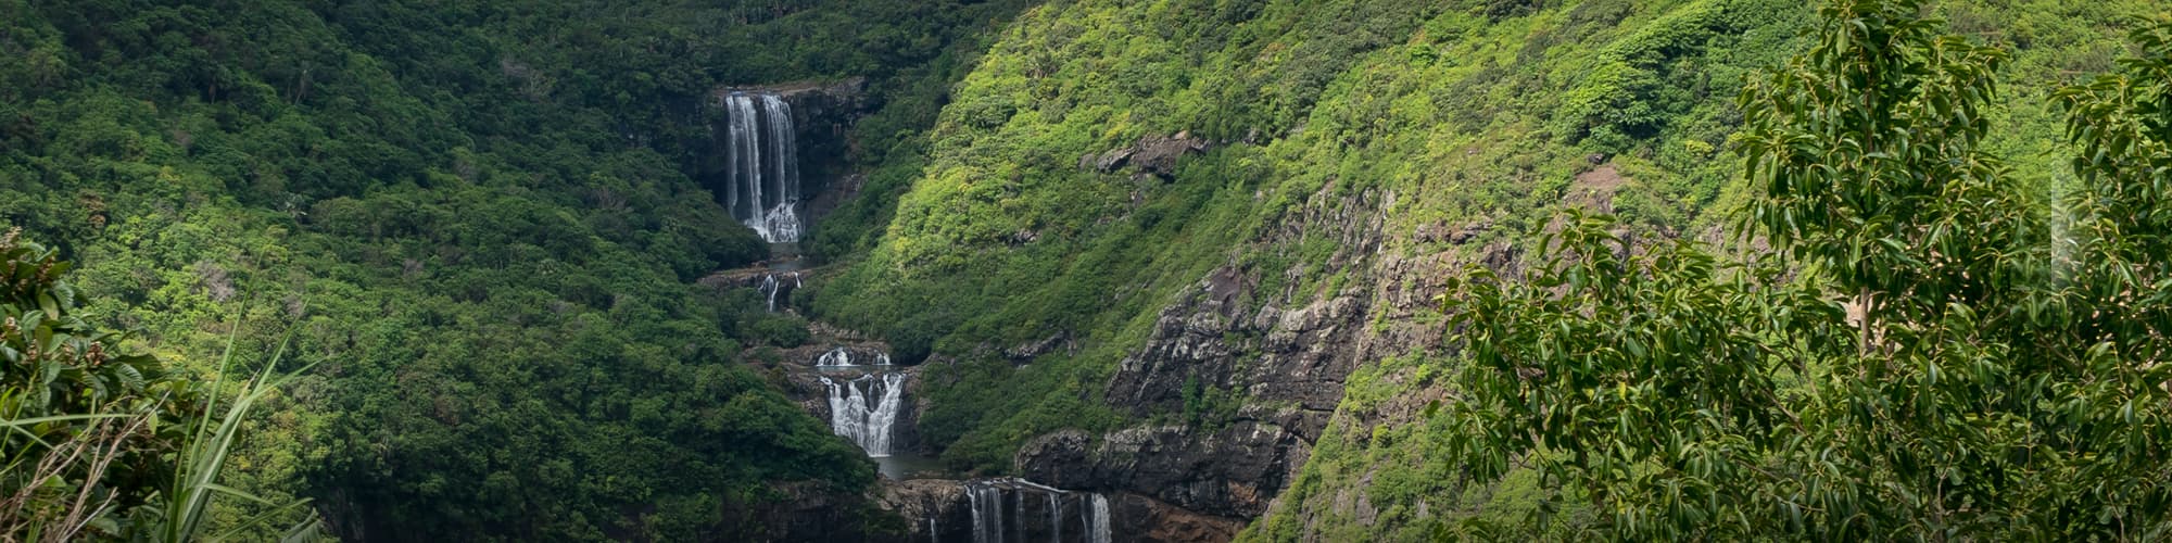
{"label": "large grey-brown rock face on the sunlit hillside beside the lower falls", "polygon": [[[1147,172],[1173,156],[1142,161],[1145,148],[1151,146],[1088,156],[1088,167],[1138,165]],[[1099,437],[1045,434],[1019,450],[1021,473],[1062,489],[1116,491],[1116,536],[1123,541],[1225,541],[1264,515],[1327,428],[1342,400],[1342,380],[1362,361],[1438,345],[1442,337],[1434,326],[1368,328],[1379,313],[1427,311],[1438,293],[1438,285],[1379,278],[1460,265],[1377,252],[1379,209],[1392,195],[1334,198],[1334,189],[1323,187],[1312,202],[1255,243],[1329,237],[1340,250],[1310,269],[1301,263],[1210,272],[1162,308],[1153,334],[1110,378],[1110,406],[1175,424]],[[1329,291],[1318,276],[1338,272],[1349,272],[1347,280]],[[1279,278],[1284,287],[1262,289],[1264,278]]]}

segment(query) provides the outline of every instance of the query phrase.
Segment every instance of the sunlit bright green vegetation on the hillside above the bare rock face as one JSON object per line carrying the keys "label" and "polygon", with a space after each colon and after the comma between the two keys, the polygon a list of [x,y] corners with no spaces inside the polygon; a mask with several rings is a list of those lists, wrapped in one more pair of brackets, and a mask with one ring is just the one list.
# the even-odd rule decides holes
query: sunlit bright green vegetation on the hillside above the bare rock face
{"label": "sunlit bright green vegetation on the hillside above the bare rock face", "polygon": [[[960,83],[882,241],[810,289],[812,308],[906,358],[956,358],[934,367],[921,430],[960,467],[1008,469],[1036,434],[1125,424],[1101,408],[1108,376],[1216,267],[1258,285],[1245,308],[1364,289],[1366,269],[1331,265],[1371,250],[1358,230],[1405,256],[1464,250],[1401,239],[1416,228],[1499,226],[1473,248],[1518,237],[1594,150],[1638,178],[1614,198],[1633,222],[1707,224],[1740,115],[1725,96],[1785,59],[1807,15],[1764,0],[1494,4],[1036,7]],[[1638,72],[1633,91],[1607,70]],[[1179,132],[1212,146],[1164,176],[1079,167]],[[1618,137],[1599,148],[1596,132]],[[1362,213],[1375,206],[1379,226]],[[1051,337],[1075,350],[997,356]],[[1212,426],[1236,411],[1205,384],[1195,397],[1145,417]]]}

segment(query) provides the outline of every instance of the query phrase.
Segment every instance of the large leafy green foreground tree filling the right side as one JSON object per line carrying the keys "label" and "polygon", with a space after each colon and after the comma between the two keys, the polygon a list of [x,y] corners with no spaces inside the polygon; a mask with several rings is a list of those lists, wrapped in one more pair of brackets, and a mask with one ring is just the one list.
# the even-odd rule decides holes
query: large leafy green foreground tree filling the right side
{"label": "large leafy green foreground tree filling the right side", "polygon": [[1605,219],[1455,298],[1477,478],[1531,465],[1631,539],[2161,539],[2172,24],[2059,93],[2079,187],[1979,150],[2005,59],[1840,0],[1742,93],[1746,263]]}

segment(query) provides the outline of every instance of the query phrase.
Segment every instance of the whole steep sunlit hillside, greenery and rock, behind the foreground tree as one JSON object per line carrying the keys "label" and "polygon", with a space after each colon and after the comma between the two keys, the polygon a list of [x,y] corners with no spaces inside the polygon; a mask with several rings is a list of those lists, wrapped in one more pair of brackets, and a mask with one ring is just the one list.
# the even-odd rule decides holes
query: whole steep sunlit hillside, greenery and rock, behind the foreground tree
{"label": "whole steep sunlit hillside, greenery and rock, behind the foreground tree", "polygon": [[[2122,15],[2150,9],[1937,9],[2018,54],[1992,141],[2018,176],[2055,172],[2050,83],[2111,70]],[[1449,393],[1442,280],[1518,269],[1566,206],[1718,237],[1733,96],[1811,15],[1045,4],[960,83],[880,245],[812,308],[927,358],[919,430],[954,467],[1125,493],[1132,534],[1266,515],[1247,534],[1410,539],[1531,508],[1527,480],[1449,484],[1429,445],[1451,432],[1423,417]]]}

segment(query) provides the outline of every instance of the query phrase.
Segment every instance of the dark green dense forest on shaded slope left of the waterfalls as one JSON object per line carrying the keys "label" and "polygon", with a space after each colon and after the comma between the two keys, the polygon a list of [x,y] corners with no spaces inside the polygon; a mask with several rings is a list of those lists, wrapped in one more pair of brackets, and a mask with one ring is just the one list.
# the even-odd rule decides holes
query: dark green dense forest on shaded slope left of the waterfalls
{"label": "dark green dense forest on shaded slope left of the waterfalls", "polygon": [[686,174],[699,104],[864,76],[901,139],[1014,4],[7,0],[0,226],[172,378],[291,337],[226,484],[350,536],[756,536],[873,469],[745,358],[804,324],[693,285],[767,256]]}

